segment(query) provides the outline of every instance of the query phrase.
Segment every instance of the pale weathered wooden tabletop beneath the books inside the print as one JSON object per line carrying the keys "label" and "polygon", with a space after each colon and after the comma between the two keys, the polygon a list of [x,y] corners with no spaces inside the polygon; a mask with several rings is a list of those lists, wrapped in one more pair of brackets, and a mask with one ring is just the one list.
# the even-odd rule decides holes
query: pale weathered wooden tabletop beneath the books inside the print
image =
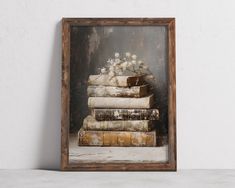
{"label": "pale weathered wooden tabletop beneath the books inside the print", "polygon": [[166,162],[167,159],[167,145],[163,147],[79,147],[77,136],[70,136],[69,163]]}

